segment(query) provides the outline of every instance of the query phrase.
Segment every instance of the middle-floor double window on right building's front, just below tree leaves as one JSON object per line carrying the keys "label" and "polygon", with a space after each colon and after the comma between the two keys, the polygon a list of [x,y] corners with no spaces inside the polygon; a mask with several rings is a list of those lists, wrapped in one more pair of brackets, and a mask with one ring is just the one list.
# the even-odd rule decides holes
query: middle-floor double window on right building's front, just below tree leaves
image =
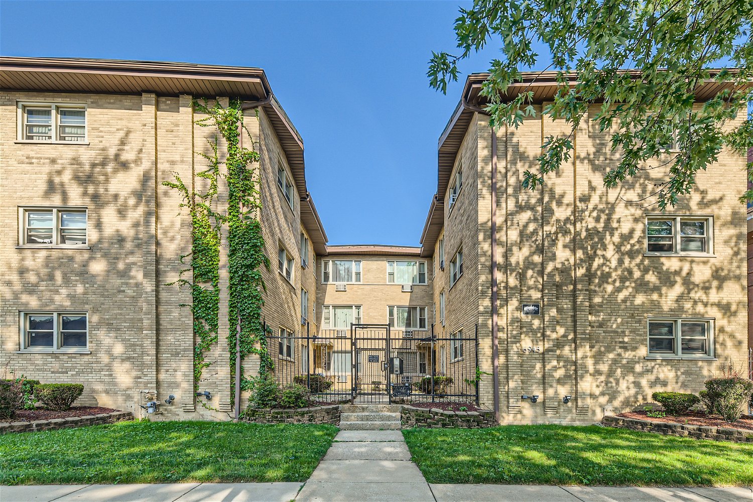
{"label": "middle-floor double window on right building's front, just below tree leaves", "polygon": [[712,254],[711,217],[652,216],[646,219],[646,252]]}

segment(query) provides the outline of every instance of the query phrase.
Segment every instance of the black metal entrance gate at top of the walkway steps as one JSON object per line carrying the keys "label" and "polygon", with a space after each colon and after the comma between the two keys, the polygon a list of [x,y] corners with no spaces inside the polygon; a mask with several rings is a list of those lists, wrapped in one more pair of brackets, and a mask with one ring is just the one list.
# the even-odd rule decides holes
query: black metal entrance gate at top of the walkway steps
{"label": "black metal entrance gate at top of the walkway steps", "polygon": [[389,324],[351,324],[352,403],[389,403]]}

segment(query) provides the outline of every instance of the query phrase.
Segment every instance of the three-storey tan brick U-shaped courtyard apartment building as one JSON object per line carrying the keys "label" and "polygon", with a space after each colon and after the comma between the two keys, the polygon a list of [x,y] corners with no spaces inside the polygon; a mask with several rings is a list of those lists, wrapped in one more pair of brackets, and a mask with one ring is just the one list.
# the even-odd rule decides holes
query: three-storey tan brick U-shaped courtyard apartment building
{"label": "three-storey tan brick U-shaped courtyard apartment building", "polygon": [[[139,411],[142,391],[156,391],[160,401],[175,395],[162,418],[227,418],[228,324],[198,385],[214,411],[194,393],[190,292],[171,284],[191,251],[191,219],[178,211],[180,194],[160,185],[174,172],[195,181],[203,169],[212,129],[196,126],[191,102],[204,96],[252,106],[244,126],[261,154],[273,263],[263,270],[264,321],[281,369],[339,368],[351,388],[361,382],[343,368],[361,361],[349,345],[311,348],[299,337],[389,325],[449,341],[412,345],[416,376],[450,373],[464,359],[495,374],[477,392],[505,423],[587,423],[652,391],[697,391],[724,361],[742,364],[745,159],[724,151],[694,196],[660,213],[631,202],[650,175],[602,186],[617,154],[584,121],[574,158],[528,192],[523,171],[566,124],[538,117],[492,133],[479,108],[484,78],[468,78],[441,135],[422,246],[328,246],[303,141],[261,69],[0,58],[0,366],[81,382],[84,404]],[[556,86],[536,89],[541,108]],[[698,99],[715,92],[705,84]],[[477,356],[466,347],[464,357],[469,333]]]}

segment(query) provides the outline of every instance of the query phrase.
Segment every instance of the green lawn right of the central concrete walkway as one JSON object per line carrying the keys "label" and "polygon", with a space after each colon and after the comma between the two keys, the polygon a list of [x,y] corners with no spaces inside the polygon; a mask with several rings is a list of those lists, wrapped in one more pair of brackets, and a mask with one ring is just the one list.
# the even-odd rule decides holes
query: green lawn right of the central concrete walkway
{"label": "green lawn right of the central concrete walkway", "polygon": [[753,485],[753,443],[607,427],[403,431],[430,483]]}

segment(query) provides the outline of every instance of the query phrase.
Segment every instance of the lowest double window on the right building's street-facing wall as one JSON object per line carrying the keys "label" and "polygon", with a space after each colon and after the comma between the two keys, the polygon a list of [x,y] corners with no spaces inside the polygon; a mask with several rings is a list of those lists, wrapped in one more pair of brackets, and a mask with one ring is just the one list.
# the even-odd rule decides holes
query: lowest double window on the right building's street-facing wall
{"label": "lowest double window on the right building's street-facing wall", "polygon": [[712,324],[711,319],[649,319],[648,354],[713,357]]}

